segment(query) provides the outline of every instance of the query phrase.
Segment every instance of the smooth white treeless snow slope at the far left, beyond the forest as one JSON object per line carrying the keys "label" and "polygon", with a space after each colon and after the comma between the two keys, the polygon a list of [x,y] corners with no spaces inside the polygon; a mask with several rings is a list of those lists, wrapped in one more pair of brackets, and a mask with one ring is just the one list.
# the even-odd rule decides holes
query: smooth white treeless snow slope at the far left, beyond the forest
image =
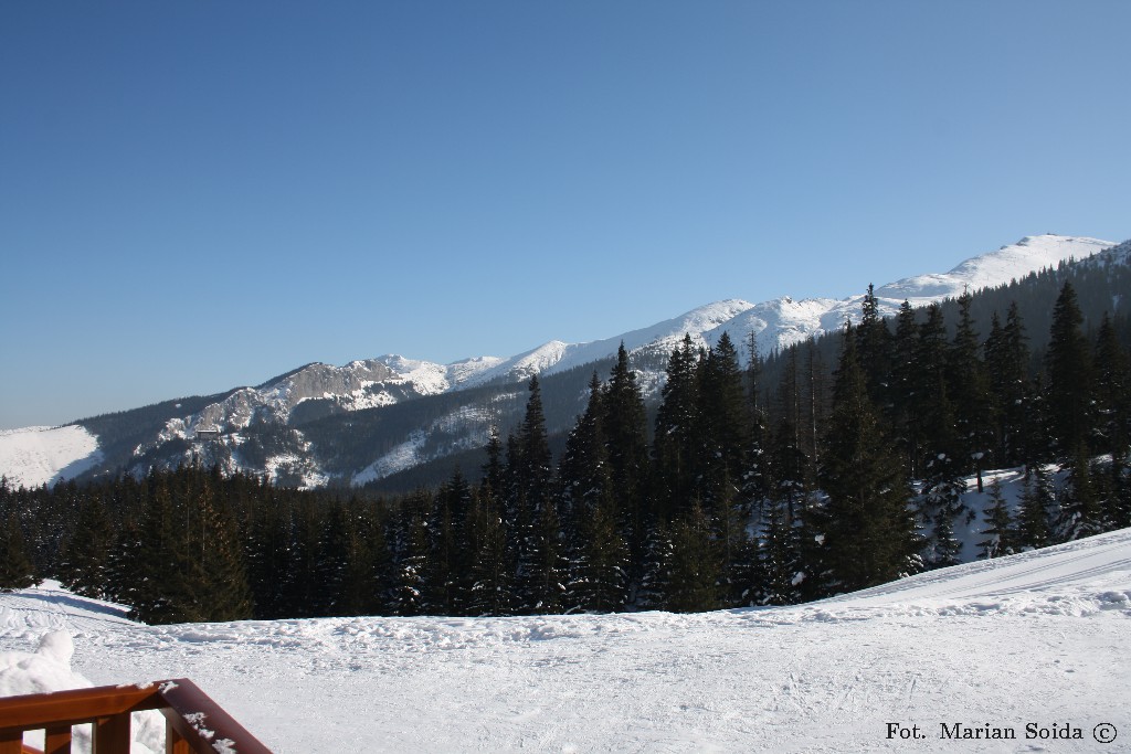
{"label": "smooth white treeless snow slope at the far left, beyond the forest", "polygon": [[70,479],[100,460],[98,439],[86,427],[0,430],[0,475],[14,487]]}

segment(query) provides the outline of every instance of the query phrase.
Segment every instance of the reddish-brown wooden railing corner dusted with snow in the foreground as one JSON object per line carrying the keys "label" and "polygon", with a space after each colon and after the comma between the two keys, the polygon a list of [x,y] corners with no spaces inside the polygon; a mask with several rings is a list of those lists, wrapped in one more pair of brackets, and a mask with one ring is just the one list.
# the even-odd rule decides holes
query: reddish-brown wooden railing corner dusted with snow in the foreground
{"label": "reddish-brown wooden railing corner dusted with snow in the foreground", "polygon": [[24,733],[43,730],[43,754],[69,754],[71,726],[92,723],[94,754],[129,754],[130,713],[165,716],[165,754],[270,754],[187,678],[0,697],[0,754],[38,752]]}

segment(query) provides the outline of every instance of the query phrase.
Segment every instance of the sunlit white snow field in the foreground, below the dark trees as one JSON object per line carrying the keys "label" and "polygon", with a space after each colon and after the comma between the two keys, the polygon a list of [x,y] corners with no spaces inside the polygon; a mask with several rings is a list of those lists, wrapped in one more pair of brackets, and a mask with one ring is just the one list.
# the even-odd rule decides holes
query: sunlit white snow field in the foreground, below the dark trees
{"label": "sunlit white snow field in the foreground, below the dark trees", "polygon": [[45,641],[42,661],[96,685],[190,677],[277,752],[1116,752],[1129,639],[1125,529],[697,615],[143,626],[48,582],[0,595],[0,684]]}

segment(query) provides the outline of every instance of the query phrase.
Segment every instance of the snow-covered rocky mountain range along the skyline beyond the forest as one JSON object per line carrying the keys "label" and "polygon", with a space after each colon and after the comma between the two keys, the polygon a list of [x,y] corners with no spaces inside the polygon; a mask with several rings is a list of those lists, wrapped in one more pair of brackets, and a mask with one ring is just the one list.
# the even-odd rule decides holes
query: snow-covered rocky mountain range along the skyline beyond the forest
{"label": "snow-covered rocky mountain range along the skyline beyond the forest", "polygon": [[[1088,237],[1029,236],[970,258],[949,272],[904,278],[880,286],[874,293],[881,313],[895,314],[905,300],[913,306],[922,306],[958,296],[967,288],[977,291],[1008,284],[1065,260],[1091,258],[1113,245]],[[230,470],[266,473],[279,482],[309,486],[337,479],[360,484],[481,445],[487,426],[500,421],[503,409],[498,396],[484,398],[475,393],[476,389],[513,385],[533,374],[562,374],[612,357],[621,343],[630,354],[655,355],[662,364],[684,335],[690,335],[698,345],[713,345],[724,331],[737,343],[754,333],[759,352],[768,354],[835,331],[846,319],[858,321],[862,298],[863,289],[836,300],[783,296],[758,304],[719,301],[610,338],[579,344],[550,340],[510,357],[480,356],[437,364],[385,355],[345,366],[309,364],[259,387],[231,391],[191,410],[182,410],[179,402],[170,401],[156,417],[154,411],[147,411],[145,426],[127,433],[128,443],[116,435],[107,437],[105,423],[97,421],[84,423],[87,434],[97,435],[97,445],[77,442],[74,428],[7,432],[0,435],[0,474],[16,484],[36,485],[74,476],[100,463],[144,471],[152,463],[171,465],[197,457]],[[641,383],[658,389],[661,370],[646,370]],[[511,391],[509,396],[515,395],[512,388],[504,390]],[[466,393],[466,400],[456,397],[442,410],[433,405],[426,417],[406,422],[405,426],[398,423],[396,436],[377,437],[370,433],[364,442],[371,443],[372,449],[363,449],[360,456],[364,458],[348,463],[326,457],[331,452],[327,448],[335,443],[327,442],[327,432],[319,433],[313,426],[319,421],[364,409],[457,393]],[[121,427],[115,426],[113,432],[121,433]],[[443,442],[434,441],[437,436],[443,437]],[[114,452],[109,452],[110,445]],[[104,458],[95,456],[100,448],[106,451]],[[320,452],[322,456],[316,458]]]}

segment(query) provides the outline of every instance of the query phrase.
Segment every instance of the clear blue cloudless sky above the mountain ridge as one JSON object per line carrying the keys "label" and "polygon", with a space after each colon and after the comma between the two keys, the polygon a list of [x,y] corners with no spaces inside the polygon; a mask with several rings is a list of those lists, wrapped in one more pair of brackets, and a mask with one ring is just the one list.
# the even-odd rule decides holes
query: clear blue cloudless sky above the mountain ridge
{"label": "clear blue cloudless sky above the mountain ridge", "polygon": [[1131,3],[0,3],[0,427],[1131,236]]}

